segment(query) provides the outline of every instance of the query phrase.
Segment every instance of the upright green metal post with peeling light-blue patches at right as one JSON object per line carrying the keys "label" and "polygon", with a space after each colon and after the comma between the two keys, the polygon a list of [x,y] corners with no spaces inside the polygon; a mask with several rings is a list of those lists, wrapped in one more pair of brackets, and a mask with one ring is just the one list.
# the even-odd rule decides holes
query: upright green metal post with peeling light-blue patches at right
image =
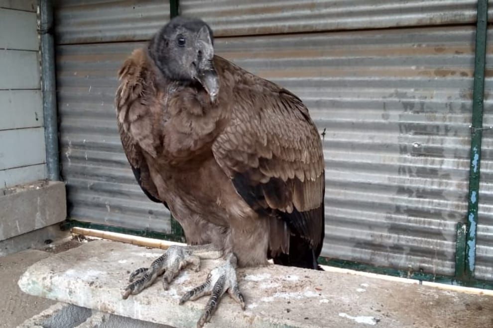
{"label": "upright green metal post with peeling light-blue patches at right", "polygon": [[483,99],[485,93],[486,34],[488,25],[488,0],[478,0],[476,26],[476,55],[474,62],[473,117],[471,124],[471,165],[469,168],[469,206],[467,217],[465,278],[474,276],[478,203],[481,164],[481,138],[483,136]]}

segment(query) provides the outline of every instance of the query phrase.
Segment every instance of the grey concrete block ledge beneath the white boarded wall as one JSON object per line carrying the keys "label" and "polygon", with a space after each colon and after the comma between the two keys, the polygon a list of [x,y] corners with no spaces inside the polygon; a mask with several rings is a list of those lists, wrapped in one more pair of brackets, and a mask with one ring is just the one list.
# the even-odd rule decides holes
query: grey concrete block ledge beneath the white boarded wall
{"label": "grey concrete block ledge beneath the white boarded wall", "polygon": [[62,222],[65,184],[38,181],[0,190],[0,241]]}

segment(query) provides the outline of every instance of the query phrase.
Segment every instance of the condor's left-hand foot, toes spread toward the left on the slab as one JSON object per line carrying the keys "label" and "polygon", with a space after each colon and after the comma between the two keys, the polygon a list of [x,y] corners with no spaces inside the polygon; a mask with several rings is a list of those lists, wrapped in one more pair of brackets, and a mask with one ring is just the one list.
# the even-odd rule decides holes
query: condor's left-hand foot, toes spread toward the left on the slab
{"label": "condor's left-hand foot, toes spread toward the left on the slab", "polygon": [[164,254],[155,259],[148,268],[138,268],[130,274],[130,284],[123,291],[125,300],[128,295],[138,294],[150,286],[158,276],[163,275],[163,287],[168,289],[171,281],[188,264],[193,264],[195,271],[200,270],[200,258],[219,258],[222,250],[212,244],[199,246],[170,246]]}

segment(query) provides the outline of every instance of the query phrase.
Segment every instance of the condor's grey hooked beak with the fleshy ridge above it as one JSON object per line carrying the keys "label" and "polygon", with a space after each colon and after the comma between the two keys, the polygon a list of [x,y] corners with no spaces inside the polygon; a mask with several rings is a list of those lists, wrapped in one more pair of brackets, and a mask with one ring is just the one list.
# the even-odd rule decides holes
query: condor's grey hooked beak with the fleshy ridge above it
{"label": "condor's grey hooked beak with the fleshy ridge above it", "polygon": [[207,27],[202,27],[197,38],[197,80],[202,84],[211,101],[214,101],[219,93],[219,79],[214,68],[214,47]]}

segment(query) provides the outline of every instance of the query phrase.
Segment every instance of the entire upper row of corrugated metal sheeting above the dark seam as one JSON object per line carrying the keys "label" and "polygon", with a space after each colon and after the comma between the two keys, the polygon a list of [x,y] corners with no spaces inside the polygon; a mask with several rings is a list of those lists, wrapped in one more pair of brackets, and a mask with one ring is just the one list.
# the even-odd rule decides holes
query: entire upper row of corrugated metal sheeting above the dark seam
{"label": "entire upper row of corrugated metal sheeting above the dark seam", "polygon": [[[216,36],[468,24],[476,0],[180,0],[180,13]],[[493,8],[490,9],[493,21]],[[169,19],[169,1],[59,0],[59,44],[147,40]]]}

